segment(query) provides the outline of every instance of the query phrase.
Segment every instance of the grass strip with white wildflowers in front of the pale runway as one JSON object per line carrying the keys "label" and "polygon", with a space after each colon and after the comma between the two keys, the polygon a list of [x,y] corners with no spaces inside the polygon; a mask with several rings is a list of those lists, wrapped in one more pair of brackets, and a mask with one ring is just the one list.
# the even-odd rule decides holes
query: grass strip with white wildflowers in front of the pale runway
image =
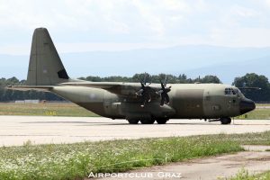
{"label": "grass strip with white wildflowers in front of the pale runway", "polygon": [[240,150],[238,142],[214,135],[36,146],[28,141],[0,148],[0,179],[83,179],[90,172],[122,172]]}

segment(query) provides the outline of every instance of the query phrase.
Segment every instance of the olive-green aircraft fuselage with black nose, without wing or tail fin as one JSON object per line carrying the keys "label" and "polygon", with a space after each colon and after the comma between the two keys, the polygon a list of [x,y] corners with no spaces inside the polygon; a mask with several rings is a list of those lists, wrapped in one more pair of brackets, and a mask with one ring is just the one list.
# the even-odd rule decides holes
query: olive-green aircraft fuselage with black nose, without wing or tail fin
{"label": "olive-green aircraft fuselage with black nose, without wing or tail fin", "polygon": [[[85,109],[112,119],[167,118],[216,119],[234,117],[252,111],[255,103],[237,87],[220,84],[172,84],[170,103],[160,106],[156,99],[141,107],[103,89],[82,86],[55,86],[52,92]],[[227,91],[227,92],[226,92]]]}

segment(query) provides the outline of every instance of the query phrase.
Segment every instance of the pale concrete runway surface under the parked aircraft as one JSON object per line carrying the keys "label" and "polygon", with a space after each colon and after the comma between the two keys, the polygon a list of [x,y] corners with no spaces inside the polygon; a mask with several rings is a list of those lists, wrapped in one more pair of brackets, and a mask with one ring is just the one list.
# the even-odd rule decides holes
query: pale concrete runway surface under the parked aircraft
{"label": "pale concrete runway surface under the parked aircraft", "polygon": [[270,120],[238,120],[234,124],[171,120],[167,124],[130,125],[125,120],[82,117],[0,116],[0,146],[72,143],[85,140],[139,139],[270,130]]}

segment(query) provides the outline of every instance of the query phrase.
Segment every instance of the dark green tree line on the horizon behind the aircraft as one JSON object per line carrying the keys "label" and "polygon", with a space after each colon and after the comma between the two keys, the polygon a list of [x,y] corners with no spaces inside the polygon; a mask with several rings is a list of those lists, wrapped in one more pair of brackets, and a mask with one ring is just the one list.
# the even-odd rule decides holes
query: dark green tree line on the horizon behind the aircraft
{"label": "dark green tree line on the horizon behind the aircraft", "polygon": [[[203,76],[197,78],[190,78],[184,74],[179,76],[174,75],[153,75],[148,74],[135,74],[134,76],[86,76],[80,77],[82,80],[93,81],[93,82],[141,82],[146,80],[148,83],[160,83],[166,78],[166,82],[170,84],[187,84],[187,83],[214,83],[221,84],[218,76]],[[25,85],[25,80],[19,80],[16,77],[0,79],[0,102],[11,102],[15,100],[25,99],[40,99],[46,101],[64,101],[61,97],[56,94],[48,92],[37,92],[37,91],[14,91],[5,89],[7,85]],[[257,102],[269,102],[270,101],[270,83],[266,76],[257,75],[255,73],[247,74],[245,76],[239,76],[234,79],[232,85],[237,87],[260,87],[261,90],[242,90],[243,94]]]}

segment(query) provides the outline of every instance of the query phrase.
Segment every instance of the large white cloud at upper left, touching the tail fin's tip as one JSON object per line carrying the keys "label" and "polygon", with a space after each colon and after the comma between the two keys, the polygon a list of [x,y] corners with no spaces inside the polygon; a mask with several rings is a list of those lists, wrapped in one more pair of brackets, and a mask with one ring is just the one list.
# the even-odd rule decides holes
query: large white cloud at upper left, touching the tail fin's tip
{"label": "large white cloud at upper left, touching the tail fin's tip", "polygon": [[[130,33],[141,29],[162,36],[167,20],[181,21],[190,6],[183,0],[55,0],[0,1],[0,27],[32,30],[68,28],[75,31]],[[3,4],[3,5],[2,5]]]}

